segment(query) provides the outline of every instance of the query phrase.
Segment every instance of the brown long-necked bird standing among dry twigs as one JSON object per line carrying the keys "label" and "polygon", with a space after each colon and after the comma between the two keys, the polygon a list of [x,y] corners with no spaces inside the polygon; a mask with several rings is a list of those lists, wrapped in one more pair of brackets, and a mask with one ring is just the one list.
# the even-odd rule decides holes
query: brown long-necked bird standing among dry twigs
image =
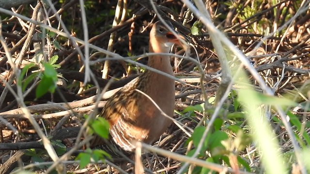
{"label": "brown long-necked bird standing among dry twigs", "polygon": [[[170,22],[167,23],[172,26]],[[177,35],[185,40],[182,34]],[[169,53],[174,43],[182,46],[180,40],[161,21],[155,22],[150,31],[149,52]],[[173,75],[169,56],[149,56],[147,65]],[[164,116],[150,99],[136,89],[148,95],[165,114],[173,116],[174,80],[146,70],[107,101],[99,116],[109,122],[109,145],[105,145],[107,141],[95,135],[91,147],[99,146],[116,157],[117,151],[130,155],[136,148],[134,142],[152,144],[168,129],[172,120]]]}

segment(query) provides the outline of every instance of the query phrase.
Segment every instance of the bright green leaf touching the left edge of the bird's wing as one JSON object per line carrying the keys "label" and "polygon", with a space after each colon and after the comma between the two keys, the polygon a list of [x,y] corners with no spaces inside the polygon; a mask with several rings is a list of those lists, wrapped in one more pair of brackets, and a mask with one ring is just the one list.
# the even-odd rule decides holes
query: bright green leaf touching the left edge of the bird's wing
{"label": "bright green leaf touching the left edge of the bird's wing", "polygon": [[109,122],[104,119],[103,117],[98,117],[96,120],[93,121],[91,127],[93,131],[96,132],[102,138],[108,139],[109,138]]}

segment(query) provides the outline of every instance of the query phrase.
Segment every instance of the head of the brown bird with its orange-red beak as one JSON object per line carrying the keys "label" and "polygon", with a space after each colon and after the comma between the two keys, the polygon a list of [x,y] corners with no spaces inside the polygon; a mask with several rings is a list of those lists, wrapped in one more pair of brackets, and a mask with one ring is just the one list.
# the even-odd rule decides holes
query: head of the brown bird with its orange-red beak
{"label": "head of the brown bird with its orange-red beak", "polygon": [[[166,23],[172,29],[171,23],[168,21]],[[186,40],[182,34],[176,33],[181,39]],[[169,53],[174,43],[182,45],[180,40],[161,21],[155,22],[150,32],[150,47],[152,51],[155,53]]]}

